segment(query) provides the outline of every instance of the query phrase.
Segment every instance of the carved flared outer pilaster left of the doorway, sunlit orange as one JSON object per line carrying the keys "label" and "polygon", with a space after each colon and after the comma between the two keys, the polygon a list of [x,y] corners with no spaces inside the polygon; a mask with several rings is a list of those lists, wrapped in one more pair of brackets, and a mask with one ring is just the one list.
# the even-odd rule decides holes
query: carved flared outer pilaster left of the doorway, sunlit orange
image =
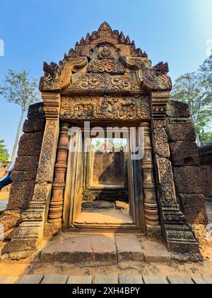
{"label": "carved flared outer pilaster left of the doorway, sunlit orange", "polygon": [[16,235],[6,247],[5,253],[11,258],[25,258],[37,250],[43,237],[45,219],[49,206],[59,138],[60,94],[43,92],[44,111],[46,118],[45,133],[37,170],[37,178],[33,199],[28,210],[23,213],[23,223]]}

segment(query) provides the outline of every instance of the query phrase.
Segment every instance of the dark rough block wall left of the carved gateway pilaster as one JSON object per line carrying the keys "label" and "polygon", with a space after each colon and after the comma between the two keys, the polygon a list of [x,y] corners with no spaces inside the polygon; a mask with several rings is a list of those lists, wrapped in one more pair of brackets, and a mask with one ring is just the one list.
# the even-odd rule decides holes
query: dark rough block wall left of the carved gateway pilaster
{"label": "dark rough block wall left of the carved gateway pilaster", "polygon": [[23,125],[16,165],[11,174],[11,192],[6,211],[0,217],[5,231],[15,228],[21,221],[21,214],[28,208],[33,197],[37,166],[45,129],[42,103],[30,106],[28,119]]}

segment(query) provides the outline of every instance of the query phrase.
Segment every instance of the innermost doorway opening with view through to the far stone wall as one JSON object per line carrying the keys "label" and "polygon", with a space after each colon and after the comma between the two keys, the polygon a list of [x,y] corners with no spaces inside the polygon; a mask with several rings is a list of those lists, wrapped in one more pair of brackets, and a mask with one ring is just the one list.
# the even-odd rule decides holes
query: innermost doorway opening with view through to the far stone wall
{"label": "innermost doorway opening with view through to the far stone wall", "polygon": [[133,224],[126,138],[89,138],[86,148],[83,201],[76,224]]}

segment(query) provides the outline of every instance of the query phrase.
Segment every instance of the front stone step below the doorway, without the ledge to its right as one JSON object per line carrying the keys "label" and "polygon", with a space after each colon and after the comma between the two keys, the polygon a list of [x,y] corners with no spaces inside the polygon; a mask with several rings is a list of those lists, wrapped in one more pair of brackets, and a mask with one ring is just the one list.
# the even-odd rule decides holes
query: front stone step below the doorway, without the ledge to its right
{"label": "front stone step below the doorway, without the ledge to its right", "polygon": [[118,261],[143,262],[141,243],[136,236],[73,235],[50,241],[42,249],[42,263],[69,263],[79,266],[117,265]]}

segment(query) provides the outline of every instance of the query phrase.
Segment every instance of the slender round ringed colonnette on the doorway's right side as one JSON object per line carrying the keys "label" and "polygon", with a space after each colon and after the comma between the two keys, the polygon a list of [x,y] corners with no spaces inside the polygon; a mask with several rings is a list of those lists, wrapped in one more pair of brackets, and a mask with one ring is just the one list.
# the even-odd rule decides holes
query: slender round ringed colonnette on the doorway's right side
{"label": "slender round ringed colonnette on the doorway's right side", "polygon": [[151,239],[161,240],[161,227],[159,223],[158,202],[155,193],[155,177],[151,144],[151,123],[143,122],[144,129],[144,157],[142,160],[144,211],[146,219],[147,236]]}

